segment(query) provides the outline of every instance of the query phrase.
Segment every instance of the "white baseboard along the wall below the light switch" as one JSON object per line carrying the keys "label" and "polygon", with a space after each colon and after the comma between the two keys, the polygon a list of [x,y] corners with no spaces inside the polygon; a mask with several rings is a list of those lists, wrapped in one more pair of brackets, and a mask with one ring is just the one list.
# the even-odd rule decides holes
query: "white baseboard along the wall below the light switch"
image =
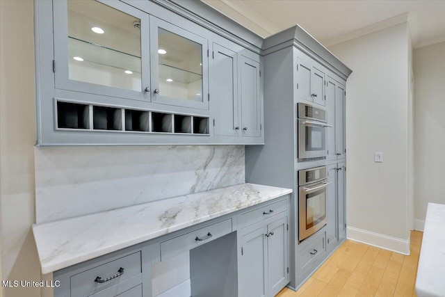
{"label": "white baseboard along the wall below the light switch", "polygon": [[392,252],[399,252],[403,255],[410,255],[410,240],[398,239],[355,227],[347,227],[348,239],[361,243],[376,246]]}

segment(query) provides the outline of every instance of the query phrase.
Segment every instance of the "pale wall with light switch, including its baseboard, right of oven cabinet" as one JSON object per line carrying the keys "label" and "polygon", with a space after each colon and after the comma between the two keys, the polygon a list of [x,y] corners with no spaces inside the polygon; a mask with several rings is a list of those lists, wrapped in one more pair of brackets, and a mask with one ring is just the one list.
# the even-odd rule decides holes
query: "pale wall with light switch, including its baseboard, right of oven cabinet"
{"label": "pale wall with light switch, including its baseboard, right of oven cabinet", "polygon": [[[348,237],[409,253],[409,28],[330,47],[353,70],[346,90]],[[383,152],[383,163],[374,163]]]}

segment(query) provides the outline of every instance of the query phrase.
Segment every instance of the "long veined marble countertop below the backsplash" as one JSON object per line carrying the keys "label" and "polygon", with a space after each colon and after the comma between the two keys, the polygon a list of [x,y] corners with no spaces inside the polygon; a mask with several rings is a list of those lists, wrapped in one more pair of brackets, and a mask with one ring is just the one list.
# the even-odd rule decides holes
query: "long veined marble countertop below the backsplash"
{"label": "long veined marble countertop below the backsplash", "polygon": [[33,225],[42,273],[106,255],[289,193],[292,193],[289,188],[239,184]]}

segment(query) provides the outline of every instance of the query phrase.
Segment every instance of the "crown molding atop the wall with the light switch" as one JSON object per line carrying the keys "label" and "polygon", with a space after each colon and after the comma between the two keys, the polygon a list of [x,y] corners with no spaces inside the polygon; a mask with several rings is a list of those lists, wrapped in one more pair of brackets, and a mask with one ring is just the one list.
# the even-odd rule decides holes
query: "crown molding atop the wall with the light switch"
{"label": "crown molding atop the wall with the light switch", "polygon": [[332,47],[332,45],[338,45],[339,43],[346,42],[348,40],[353,40],[363,35],[374,33],[383,29],[387,29],[391,26],[396,26],[398,24],[403,24],[406,22],[408,22],[408,13],[404,13],[403,15],[398,15],[396,17],[391,17],[390,19],[385,19],[382,22],[378,22],[370,26],[366,26],[362,29],[358,29],[350,33],[337,36],[336,38],[332,38],[330,40],[323,42],[323,45],[325,47]]}

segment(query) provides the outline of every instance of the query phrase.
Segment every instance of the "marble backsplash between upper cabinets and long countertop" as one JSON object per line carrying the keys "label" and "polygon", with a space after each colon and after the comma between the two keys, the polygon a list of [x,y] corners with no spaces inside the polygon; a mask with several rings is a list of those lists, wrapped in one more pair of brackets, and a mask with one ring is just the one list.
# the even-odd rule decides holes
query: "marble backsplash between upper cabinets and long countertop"
{"label": "marble backsplash between upper cabinets and long countertop", "polygon": [[243,145],[35,147],[36,223],[244,182]]}

